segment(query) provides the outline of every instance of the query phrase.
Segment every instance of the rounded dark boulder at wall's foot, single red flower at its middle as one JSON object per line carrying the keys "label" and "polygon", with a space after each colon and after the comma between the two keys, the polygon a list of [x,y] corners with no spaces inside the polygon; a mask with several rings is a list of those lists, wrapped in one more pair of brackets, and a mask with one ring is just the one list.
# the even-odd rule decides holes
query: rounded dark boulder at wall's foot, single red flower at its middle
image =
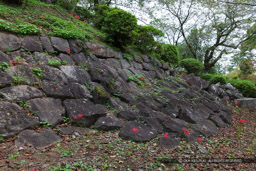
{"label": "rounded dark boulder at wall's foot, single red flower at its middle", "polygon": [[129,121],[121,128],[119,136],[136,142],[146,142],[155,138],[157,132],[141,123]]}

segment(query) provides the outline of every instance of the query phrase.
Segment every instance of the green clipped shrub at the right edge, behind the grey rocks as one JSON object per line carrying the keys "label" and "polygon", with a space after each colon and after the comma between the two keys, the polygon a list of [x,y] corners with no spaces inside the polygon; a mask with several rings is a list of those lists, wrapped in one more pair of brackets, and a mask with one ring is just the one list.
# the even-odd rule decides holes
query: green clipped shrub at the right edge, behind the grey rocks
{"label": "green clipped shrub at the right edge, behind the grey rocks", "polygon": [[256,86],[249,80],[229,80],[234,87],[236,87],[245,97],[256,97]]}

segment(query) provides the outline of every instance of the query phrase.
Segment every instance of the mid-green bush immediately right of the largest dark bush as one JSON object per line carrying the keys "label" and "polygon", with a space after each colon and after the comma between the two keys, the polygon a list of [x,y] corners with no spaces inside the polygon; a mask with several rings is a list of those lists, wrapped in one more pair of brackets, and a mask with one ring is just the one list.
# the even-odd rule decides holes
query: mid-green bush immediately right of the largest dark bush
{"label": "mid-green bush immediately right of the largest dark bush", "polygon": [[164,36],[161,30],[156,29],[153,26],[140,26],[137,25],[134,34],[134,45],[142,53],[152,53],[158,43],[154,38],[160,38]]}

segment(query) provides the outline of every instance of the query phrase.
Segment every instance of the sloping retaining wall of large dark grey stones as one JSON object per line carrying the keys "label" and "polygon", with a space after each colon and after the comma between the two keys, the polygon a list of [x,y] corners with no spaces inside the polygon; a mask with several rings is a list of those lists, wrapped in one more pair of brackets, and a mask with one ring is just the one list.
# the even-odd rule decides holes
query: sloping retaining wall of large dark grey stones
{"label": "sloping retaining wall of large dark grey stones", "polygon": [[[13,63],[17,57],[22,60]],[[50,59],[66,62],[53,66]],[[69,118],[80,127],[120,128],[120,137],[138,142],[165,133],[159,144],[172,148],[185,129],[194,141],[231,124],[224,104],[242,97],[230,84],[210,85],[146,55],[127,60],[80,40],[0,33],[0,61],[10,63],[0,70],[0,134],[18,135],[18,146],[60,141],[52,129]],[[42,123],[49,127],[35,132]]]}

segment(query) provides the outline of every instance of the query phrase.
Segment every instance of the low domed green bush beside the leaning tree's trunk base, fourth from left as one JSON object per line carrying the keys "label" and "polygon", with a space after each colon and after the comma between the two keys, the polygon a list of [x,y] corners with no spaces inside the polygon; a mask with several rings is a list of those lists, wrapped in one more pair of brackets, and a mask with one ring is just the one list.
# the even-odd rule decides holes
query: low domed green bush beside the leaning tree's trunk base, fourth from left
{"label": "low domed green bush beside the leaning tree's trunk base, fourth from left", "polygon": [[194,73],[194,74],[198,75],[204,69],[203,63],[194,58],[183,59],[183,60],[181,60],[180,65],[182,67],[184,67],[189,74]]}

